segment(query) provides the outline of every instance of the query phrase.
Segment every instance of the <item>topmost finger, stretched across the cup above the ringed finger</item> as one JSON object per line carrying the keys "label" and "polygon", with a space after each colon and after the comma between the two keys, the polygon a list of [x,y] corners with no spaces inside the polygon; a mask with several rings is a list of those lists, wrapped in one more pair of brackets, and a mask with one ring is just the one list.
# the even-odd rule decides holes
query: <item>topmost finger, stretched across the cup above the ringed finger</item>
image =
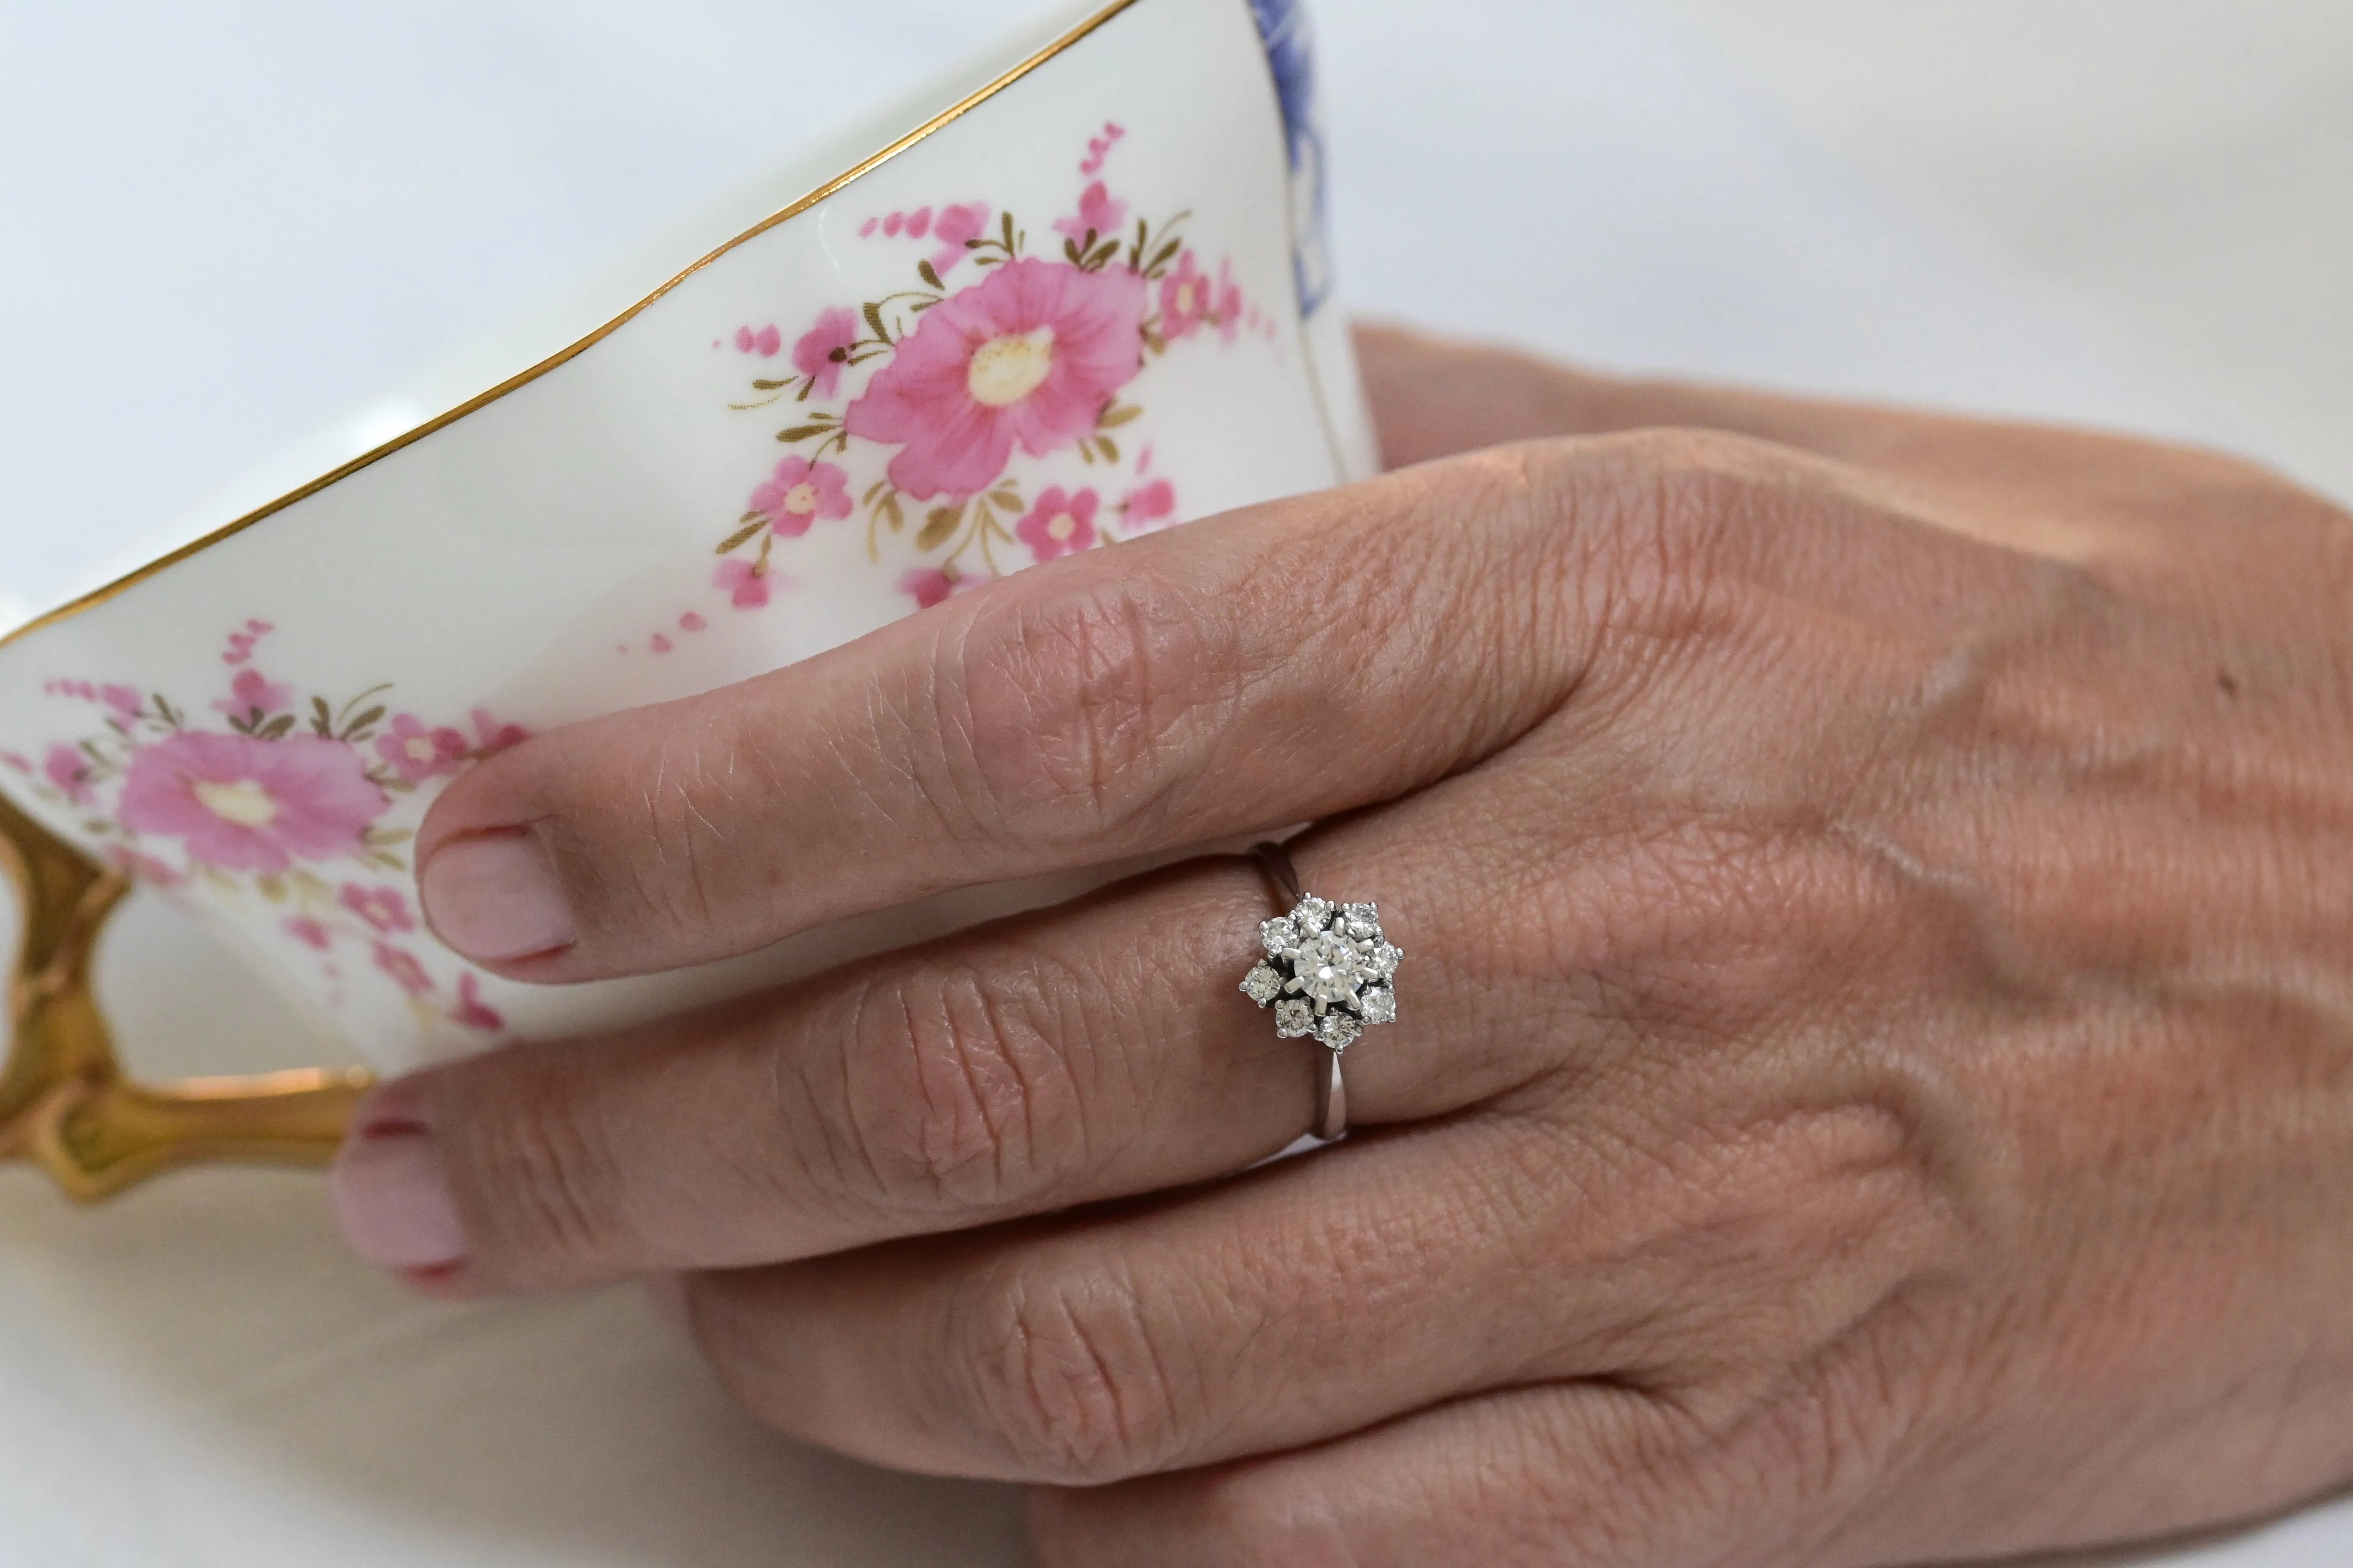
{"label": "topmost finger, stretched across the cup above the ringed finger", "polygon": [[645,973],[1395,797],[1574,686],[1551,505],[1504,456],[1254,508],[539,736],[435,802],[426,912],[515,978]]}

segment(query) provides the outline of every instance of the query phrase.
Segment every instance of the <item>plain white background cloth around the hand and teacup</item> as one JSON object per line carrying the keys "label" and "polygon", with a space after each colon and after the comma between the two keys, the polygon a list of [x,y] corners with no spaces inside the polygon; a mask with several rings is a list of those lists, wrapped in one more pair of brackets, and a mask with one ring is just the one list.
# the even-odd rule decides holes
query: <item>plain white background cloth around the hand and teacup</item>
{"label": "plain white background cloth around the hand and teacup", "polygon": [[[2315,7],[1673,2],[1678,26],[1635,0],[1322,0],[1346,294],[1602,364],[2221,440],[2353,489],[2325,440],[2344,296],[2294,287],[2344,275],[2344,233],[2280,195],[2327,207],[2289,167],[2344,146]],[[2144,47],[2219,16],[2313,31]],[[0,0],[0,583],[45,592],[993,19]],[[2238,61],[2207,73],[2228,92],[2205,61]],[[165,912],[106,959],[158,1067],[322,1051]],[[626,1293],[405,1300],[304,1175],[73,1213],[0,1171],[0,1568],[1014,1554],[1007,1493],[758,1434]],[[2315,1514],[2195,1561],[2348,1554],[2353,1523]]]}

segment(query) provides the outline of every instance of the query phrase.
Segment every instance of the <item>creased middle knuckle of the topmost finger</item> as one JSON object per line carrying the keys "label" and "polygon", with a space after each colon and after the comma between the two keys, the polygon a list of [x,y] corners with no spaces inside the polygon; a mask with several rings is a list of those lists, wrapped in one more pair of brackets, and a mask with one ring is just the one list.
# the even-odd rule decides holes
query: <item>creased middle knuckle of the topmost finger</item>
{"label": "creased middle knuckle of the topmost finger", "polygon": [[951,802],[984,837],[1080,842],[1153,825],[1217,726],[1212,628],[1151,583],[1016,599],[944,682]]}

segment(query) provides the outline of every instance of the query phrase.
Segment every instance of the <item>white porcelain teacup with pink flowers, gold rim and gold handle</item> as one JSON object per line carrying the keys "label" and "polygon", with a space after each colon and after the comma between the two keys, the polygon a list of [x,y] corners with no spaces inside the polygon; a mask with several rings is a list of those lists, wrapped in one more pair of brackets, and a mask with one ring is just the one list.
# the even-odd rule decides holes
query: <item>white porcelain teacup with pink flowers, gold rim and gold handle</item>
{"label": "white porcelain teacup with pink flowers, gold rim and gold handle", "polygon": [[87,964],[132,879],[379,1070],[1052,896],[525,987],[421,926],[409,844],[454,773],[534,731],[1374,465],[1297,0],[1089,0],[649,254],[0,642],[26,893],[0,1152],[101,1197],[334,1145],[362,1074],[120,1074]]}

